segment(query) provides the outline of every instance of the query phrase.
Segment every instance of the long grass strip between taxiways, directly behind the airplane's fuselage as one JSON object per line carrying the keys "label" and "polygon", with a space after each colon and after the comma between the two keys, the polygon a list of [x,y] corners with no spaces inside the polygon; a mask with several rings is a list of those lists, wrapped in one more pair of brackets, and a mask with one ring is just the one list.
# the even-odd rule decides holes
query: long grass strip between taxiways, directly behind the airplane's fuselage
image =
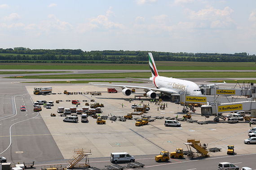
{"label": "long grass strip between taxiways, directly behind the airplane's fuselage", "polygon": [[[160,76],[173,78],[232,78],[232,77],[255,77],[255,72],[159,72]],[[127,73],[97,73],[97,74],[63,74],[63,75],[37,75],[23,76],[16,78],[27,79],[108,79],[108,78],[147,78],[151,76],[151,72],[127,72]],[[6,77],[14,78],[14,77]]]}

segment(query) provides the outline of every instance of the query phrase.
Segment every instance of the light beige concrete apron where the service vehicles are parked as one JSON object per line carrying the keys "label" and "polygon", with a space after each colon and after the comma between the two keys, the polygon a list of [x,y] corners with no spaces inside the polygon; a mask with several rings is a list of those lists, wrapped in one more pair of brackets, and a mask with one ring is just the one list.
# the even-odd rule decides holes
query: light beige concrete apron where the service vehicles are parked
{"label": "light beige concrete apron where the service vehicles are parked", "polygon": [[[184,148],[188,138],[199,139],[201,144],[207,144],[208,148],[221,148],[221,152],[210,153],[210,155],[219,156],[225,155],[228,144],[235,145],[235,151],[238,154],[254,153],[254,145],[243,144],[243,139],[247,139],[247,131],[250,129],[249,124],[240,121],[237,124],[229,124],[226,121],[218,123],[213,122],[213,117],[205,119],[201,116],[200,107],[196,108],[195,113],[192,113],[192,119],[198,121],[207,121],[208,124],[199,125],[198,123],[181,122],[181,127],[165,127],[165,119],[156,119],[148,125],[141,127],[135,126],[135,120],[110,121],[106,120],[105,125],[96,124],[96,119],[88,118],[88,123],[81,123],[79,116],[78,123],[65,123],[62,121],[63,117],[57,114],[57,107],[71,107],[71,102],[66,100],[79,100],[81,105],[78,109],[85,106],[83,100],[88,102],[94,99],[95,102],[103,103],[103,113],[101,115],[127,115],[131,113],[131,105],[133,103],[139,104],[140,101],[134,100],[134,94],[131,96],[124,96],[121,93],[107,93],[106,87],[97,87],[94,85],[75,85],[67,87],[65,85],[52,86],[54,93],[62,93],[55,95],[33,95],[33,87],[26,86],[27,91],[32,97],[33,101],[46,100],[56,101],[63,100],[63,102],[55,103],[51,109],[43,108],[38,119],[43,119],[58,148],[60,149],[64,159],[69,159],[73,155],[74,148],[91,149],[91,157],[108,157],[111,152],[128,152],[132,155],[149,155],[159,153],[161,150],[175,151],[177,148]],[[70,92],[91,92],[100,91],[102,95],[90,94],[63,94],[64,90]],[[137,90],[136,95],[143,94],[143,91]],[[129,102],[132,99],[132,102]],[[149,98],[141,98],[144,103],[150,104],[150,110],[144,115],[175,117],[178,115],[182,118],[184,113],[181,112],[183,106],[177,105],[168,101],[165,110],[157,110],[157,105],[150,103]],[[89,103],[95,103],[89,102]],[[122,103],[124,106],[122,107]],[[57,114],[56,117],[50,117],[51,113]],[[140,116],[133,116],[140,117]]]}

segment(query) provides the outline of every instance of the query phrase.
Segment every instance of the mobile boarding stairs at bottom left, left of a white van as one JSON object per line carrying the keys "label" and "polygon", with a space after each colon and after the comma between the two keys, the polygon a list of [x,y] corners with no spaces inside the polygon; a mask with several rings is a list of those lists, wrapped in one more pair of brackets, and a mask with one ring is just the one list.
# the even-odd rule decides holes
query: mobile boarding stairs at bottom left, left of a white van
{"label": "mobile boarding stairs at bottom left, left of a white van", "polygon": [[[75,148],[74,153],[75,154],[69,160],[66,161],[67,163],[69,163],[69,165],[66,167],[67,169],[73,169],[74,167],[84,167],[84,166],[90,167],[88,155],[92,154],[91,150]],[[85,157],[85,163],[82,165],[78,165],[79,161],[84,159],[84,157]]]}

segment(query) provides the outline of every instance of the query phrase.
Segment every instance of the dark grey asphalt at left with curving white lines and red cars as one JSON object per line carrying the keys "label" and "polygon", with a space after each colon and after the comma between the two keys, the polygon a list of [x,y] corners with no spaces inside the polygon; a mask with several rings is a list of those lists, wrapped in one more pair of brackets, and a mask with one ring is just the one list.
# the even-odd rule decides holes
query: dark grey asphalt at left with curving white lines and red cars
{"label": "dark grey asphalt at left with curving white lines and red cars", "polygon": [[[22,85],[0,83],[0,155],[12,163],[63,159],[44,120]],[[21,111],[20,106],[26,106]],[[51,157],[49,157],[51,155]]]}

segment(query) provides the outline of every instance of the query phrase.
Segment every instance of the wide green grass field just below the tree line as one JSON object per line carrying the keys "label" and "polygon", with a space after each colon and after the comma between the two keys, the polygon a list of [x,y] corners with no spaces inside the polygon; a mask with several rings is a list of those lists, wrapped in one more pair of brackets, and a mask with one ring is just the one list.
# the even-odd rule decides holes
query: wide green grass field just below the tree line
{"label": "wide green grass field just below the tree line", "polygon": [[[254,63],[156,61],[158,70],[256,70]],[[148,64],[0,63],[0,69],[149,70]]]}

